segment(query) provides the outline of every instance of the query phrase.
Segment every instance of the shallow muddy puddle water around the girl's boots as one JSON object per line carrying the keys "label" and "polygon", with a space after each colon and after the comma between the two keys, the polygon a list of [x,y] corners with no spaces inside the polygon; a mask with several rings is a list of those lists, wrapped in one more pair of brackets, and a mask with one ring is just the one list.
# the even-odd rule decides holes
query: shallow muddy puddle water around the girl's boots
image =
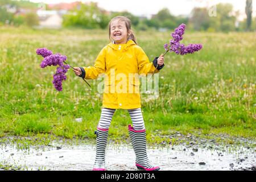
{"label": "shallow muddy puddle water around the girl's boots", "polygon": [[[25,170],[91,170],[96,148],[53,144],[43,149],[17,150],[0,146],[0,164]],[[228,146],[168,146],[148,148],[148,156],[161,170],[241,170],[256,166],[255,148]],[[108,170],[137,170],[130,145],[109,144],[106,148]]]}

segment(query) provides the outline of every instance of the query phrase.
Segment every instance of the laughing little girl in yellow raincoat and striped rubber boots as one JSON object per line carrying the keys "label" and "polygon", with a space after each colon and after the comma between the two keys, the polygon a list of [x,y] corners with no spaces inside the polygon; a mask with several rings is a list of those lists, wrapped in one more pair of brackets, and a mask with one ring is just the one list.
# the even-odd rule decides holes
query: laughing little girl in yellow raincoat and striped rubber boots
{"label": "laughing little girl in yellow raincoat and striped rubber boots", "polygon": [[[136,155],[135,166],[147,171],[159,170],[160,168],[152,164],[147,156],[146,129],[141,111],[140,93],[130,92],[134,89],[139,90],[139,80],[138,77],[132,77],[131,80],[130,74],[153,73],[157,65],[156,73],[158,73],[164,67],[164,57],[163,55],[155,57],[154,61],[150,63],[143,49],[136,43],[131,30],[131,20],[125,16],[116,16],[110,20],[109,38],[112,39],[112,43],[101,50],[93,67],[75,67],[73,69],[77,76],[85,79],[95,79],[100,73],[105,73],[108,76],[104,80],[102,111],[96,131],[96,159],[93,170],[106,170],[105,149],[110,122],[116,109],[127,109],[133,122],[133,127],[129,125],[128,130]],[[115,74],[122,75],[123,80],[128,78],[129,82],[119,86],[119,79]],[[135,78],[135,82],[133,82],[133,78]],[[127,87],[129,87],[129,92],[127,92]],[[118,92],[119,90],[125,91]]]}

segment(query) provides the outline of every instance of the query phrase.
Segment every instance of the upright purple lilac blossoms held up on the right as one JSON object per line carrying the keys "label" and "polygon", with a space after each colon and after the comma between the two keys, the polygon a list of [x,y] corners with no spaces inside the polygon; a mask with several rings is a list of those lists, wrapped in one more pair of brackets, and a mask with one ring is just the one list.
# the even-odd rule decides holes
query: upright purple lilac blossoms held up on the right
{"label": "upright purple lilac blossoms held up on the right", "polygon": [[173,39],[170,40],[169,44],[164,44],[164,49],[166,51],[175,52],[177,55],[186,55],[187,53],[193,53],[203,48],[201,44],[189,44],[188,46],[185,46],[180,43],[183,39],[182,35],[184,34],[185,28],[186,26],[184,23],[175,28],[174,32],[171,33]]}

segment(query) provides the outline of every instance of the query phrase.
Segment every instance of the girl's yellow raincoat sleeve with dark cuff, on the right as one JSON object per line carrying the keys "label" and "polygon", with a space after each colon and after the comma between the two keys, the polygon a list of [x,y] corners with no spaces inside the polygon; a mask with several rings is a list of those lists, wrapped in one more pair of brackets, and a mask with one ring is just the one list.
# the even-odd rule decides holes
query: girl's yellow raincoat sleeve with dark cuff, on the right
{"label": "girl's yellow raincoat sleeve with dark cuff, on the right", "polygon": [[[158,57],[156,57],[154,61],[150,63],[146,53],[143,51],[141,47],[138,47],[136,55],[137,55],[139,74],[144,73],[147,75],[148,73],[153,73],[155,71]],[[162,69],[163,67],[164,67],[164,64],[161,67],[158,66],[158,69],[156,69],[155,73],[158,73],[159,70]]]}

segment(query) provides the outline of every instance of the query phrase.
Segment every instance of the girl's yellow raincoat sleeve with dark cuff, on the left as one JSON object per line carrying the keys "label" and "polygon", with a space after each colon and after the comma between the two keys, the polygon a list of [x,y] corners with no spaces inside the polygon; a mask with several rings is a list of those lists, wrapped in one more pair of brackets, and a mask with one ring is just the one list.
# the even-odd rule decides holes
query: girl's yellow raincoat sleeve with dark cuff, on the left
{"label": "girl's yellow raincoat sleeve with dark cuff, on the left", "polygon": [[93,67],[80,67],[82,74],[81,77],[92,80],[96,79],[100,73],[106,72],[106,49],[101,49]]}

